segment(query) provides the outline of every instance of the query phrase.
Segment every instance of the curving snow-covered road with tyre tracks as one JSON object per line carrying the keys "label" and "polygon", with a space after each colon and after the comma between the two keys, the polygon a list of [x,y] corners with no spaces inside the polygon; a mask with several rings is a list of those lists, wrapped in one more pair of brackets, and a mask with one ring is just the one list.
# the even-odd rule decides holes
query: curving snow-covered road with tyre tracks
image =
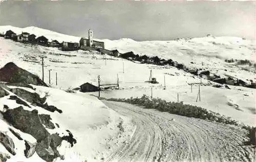
{"label": "curving snow-covered road with tyre tracks", "polygon": [[236,126],[102,101],[132,118],[132,136],[104,161],[255,161],[249,138]]}

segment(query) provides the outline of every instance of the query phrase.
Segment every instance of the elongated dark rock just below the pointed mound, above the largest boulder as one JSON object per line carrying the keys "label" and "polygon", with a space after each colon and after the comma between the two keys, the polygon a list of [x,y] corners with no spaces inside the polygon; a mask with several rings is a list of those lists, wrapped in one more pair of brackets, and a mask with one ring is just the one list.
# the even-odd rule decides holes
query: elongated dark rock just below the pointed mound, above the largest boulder
{"label": "elongated dark rock just below the pointed mound, above the largest boulder", "polygon": [[30,103],[44,104],[46,101],[46,97],[40,98],[40,96],[38,94],[32,93],[32,92],[24,90],[24,89],[12,88],[11,92],[13,92],[13,94],[17,95],[18,97],[20,97]]}

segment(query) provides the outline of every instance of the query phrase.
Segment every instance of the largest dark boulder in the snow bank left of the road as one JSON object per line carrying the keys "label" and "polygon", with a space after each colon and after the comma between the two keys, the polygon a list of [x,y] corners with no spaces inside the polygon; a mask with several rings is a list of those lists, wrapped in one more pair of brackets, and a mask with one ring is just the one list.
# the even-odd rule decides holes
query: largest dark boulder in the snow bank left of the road
{"label": "largest dark boulder in the snow bank left of the road", "polygon": [[24,110],[22,106],[14,109],[8,109],[3,113],[6,119],[13,127],[22,132],[31,134],[37,141],[44,140],[50,133],[41,124],[36,111]]}

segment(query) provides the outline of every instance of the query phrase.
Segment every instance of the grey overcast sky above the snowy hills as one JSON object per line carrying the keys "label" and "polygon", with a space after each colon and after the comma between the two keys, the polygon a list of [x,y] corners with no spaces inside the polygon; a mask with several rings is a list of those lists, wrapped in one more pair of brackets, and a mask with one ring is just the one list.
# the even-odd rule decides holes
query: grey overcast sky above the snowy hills
{"label": "grey overcast sky above the snowy hills", "polygon": [[99,39],[172,40],[240,36],[255,39],[254,2],[4,1],[0,25],[37,26]]}

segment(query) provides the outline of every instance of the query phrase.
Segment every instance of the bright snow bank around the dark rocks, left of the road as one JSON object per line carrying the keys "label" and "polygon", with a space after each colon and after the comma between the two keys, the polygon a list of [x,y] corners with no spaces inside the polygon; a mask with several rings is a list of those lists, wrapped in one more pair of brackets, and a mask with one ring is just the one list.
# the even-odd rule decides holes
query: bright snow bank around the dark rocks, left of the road
{"label": "bright snow bank around the dark rocks, left of the road", "polygon": [[[63,155],[65,159],[60,159],[57,157],[54,161],[99,161],[100,158],[110,154],[111,149],[116,147],[113,145],[113,141],[111,139],[112,136],[120,136],[117,140],[122,142],[122,136],[131,133],[129,130],[133,129],[131,125],[128,126],[129,130],[126,128],[127,123],[130,124],[129,119],[122,117],[114,110],[109,109],[95,97],[87,94],[72,94],[60,89],[49,87],[32,86],[35,88],[35,90],[27,87],[16,86],[8,86],[8,88],[24,89],[32,93],[36,92],[36,94],[38,94],[41,98],[47,96],[46,103],[61,109],[62,113],[58,113],[56,111],[50,112],[42,107],[29,103],[24,98],[22,98],[22,100],[25,101],[30,107],[20,103],[18,104],[15,102],[15,100],[9,99],[10,96],[15,96],[15,94],[7,89],[5,90],[9,93],[9,95],[0,98],[0,111],[6,111],[3,109],[3,107],[8,107],[9,110],[15,109],[19,106],[22,106],[24,110],[27,110],[28,112],[37,110],[38,115],[50,115],[51,122],[55,126],[54,129],[50,129],[49,127],[45,126],[46,130],[50,134],[58,133],[59,136],[65,136],[69,135],[68,132],[70,131],[73,134],[73,138],[76,140],[74,146],[72,147],[72,145],[67,141],[62,141],[61,145],[57,149],[59,154]],[[118,128],[120,122],[122,122],[122,126],[126,134],[121,132]],[[19,124],[30,125],[31,123],[28,122]],[[0,152],[8,153],[10,155],[10,159],[7,161],[45,161],[38,156],[37,151],[29,158],[26,158],[24,155],[24,150],[26,148],[25,140],[30,143],[38,143],[34,136],[14,128],[15,126],[10,125],[6,120],[3,119],[3,115],[1,113],[0,125],[0,132],[5,132],[12,139],[16,153],[15,155],[11,155],[3,145],[0,145]],[[23,140],[18,140],[18,138],[10,131],[10,128],[19,133]],[[33,128],[31,127],[30,129],[32,130]]]}

